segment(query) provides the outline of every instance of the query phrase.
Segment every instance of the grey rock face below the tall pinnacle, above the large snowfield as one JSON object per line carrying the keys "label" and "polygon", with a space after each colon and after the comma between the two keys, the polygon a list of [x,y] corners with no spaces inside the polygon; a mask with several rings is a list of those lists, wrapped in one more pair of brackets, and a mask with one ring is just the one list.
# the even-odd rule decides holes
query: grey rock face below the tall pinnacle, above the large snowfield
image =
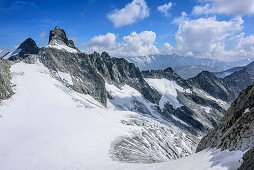
{"label": "grey rock face below the tall pinnacle, above the large snowfield", "polygon": [[50,70],[70,73],[75,91],[93,96],[106,105],[107,91],[104,79],[83,53],[69,53],[55,48],[41,48],[39,60]]}

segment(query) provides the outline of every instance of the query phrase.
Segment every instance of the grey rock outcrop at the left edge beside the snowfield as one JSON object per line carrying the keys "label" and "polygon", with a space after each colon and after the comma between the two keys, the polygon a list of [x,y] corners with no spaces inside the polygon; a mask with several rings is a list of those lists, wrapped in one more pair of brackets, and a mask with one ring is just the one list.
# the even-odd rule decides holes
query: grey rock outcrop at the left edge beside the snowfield
{"label": "grey rock outcrop at the left edge beside the snowfield", "polygon": [[11,63],[0,58],[0,101],[10,98],[14,93],[11,87]]}

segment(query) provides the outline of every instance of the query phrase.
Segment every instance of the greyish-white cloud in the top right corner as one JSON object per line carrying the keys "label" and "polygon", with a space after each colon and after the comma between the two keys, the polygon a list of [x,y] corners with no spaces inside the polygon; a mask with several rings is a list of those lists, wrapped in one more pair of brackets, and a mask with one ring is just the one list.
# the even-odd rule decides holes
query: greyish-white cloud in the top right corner
{"label": "greyish-white cloud in the top right corner", "polygon": [[192,14],[251,15],[254,14],[254,1],[253,0],[203,1],[202,5],[198,5],[193,8]]}

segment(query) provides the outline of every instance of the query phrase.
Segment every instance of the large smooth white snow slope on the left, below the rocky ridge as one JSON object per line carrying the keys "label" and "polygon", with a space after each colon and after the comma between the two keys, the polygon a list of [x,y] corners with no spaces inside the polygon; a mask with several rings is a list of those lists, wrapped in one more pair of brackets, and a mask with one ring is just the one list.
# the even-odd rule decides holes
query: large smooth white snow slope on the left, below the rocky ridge
{"label": "large smooth white snow slope on the left, below the rocky ridge", "polygon": [[[131,112],[102,108],[69,91],[40,63],[11,68],[16,94],[0,107],[0,169],[105,169],[110,143],[131,127]],[[114,128],[113,128],[114,127]],[[98,162],[100,162],[98,164]]]}

